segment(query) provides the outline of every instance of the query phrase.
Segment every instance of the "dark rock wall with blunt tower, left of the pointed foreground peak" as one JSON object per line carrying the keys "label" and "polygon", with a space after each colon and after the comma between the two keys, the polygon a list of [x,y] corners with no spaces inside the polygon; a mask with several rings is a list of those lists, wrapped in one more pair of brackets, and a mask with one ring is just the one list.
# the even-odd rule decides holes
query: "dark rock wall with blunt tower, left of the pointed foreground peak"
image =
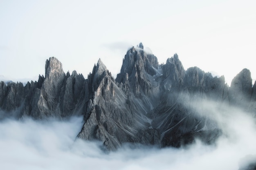
{"label": "dark rock wall with blunt tower, left of the pointed foreground peak", "polygon": [[62,64],[56,58],[50,57],[45,63],[45,77],[40,76],[38,82],[22,83],[0,82],[0,106],[10,116],[18,119],[32,117],[45,119],[47,117],[69,117],[82,115],[80,97],[83,98],[83,75],[74,71],[65,75]]}

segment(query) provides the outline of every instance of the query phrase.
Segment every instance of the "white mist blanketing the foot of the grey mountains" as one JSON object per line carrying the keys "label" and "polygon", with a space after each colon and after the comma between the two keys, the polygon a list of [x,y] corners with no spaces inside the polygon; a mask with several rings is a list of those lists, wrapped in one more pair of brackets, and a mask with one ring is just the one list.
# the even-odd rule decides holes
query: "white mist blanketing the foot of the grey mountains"
{"label": "white mist blanketing the foot of the grey mountains", "polygon": [[83,117],[5,119],[0,121],[0,169],[238,170],[256,162],[255,118],[239,108],[222,105],[220,109],[214,102],[204,106],[207,114],[203,116],[214,119],[223,135],[213,145],[196,139],[181,148],[124,144],[105,152],[98,141],[76,139]]}

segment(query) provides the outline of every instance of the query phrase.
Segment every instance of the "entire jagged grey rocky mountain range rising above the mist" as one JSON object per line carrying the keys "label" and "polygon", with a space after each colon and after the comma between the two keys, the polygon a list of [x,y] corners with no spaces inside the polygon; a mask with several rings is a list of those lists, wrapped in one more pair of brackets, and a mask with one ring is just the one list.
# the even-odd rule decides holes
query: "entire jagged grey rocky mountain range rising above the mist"
{"label": "entire jagged grey rocky mountain range rising above the mist", "polygon": [[231,82],[213,77],[198,67],[184,70],[178,55],[160,64],[157,57],[139,48],[129,49],[115,79],[99,59],[85,79],[50,57],[45,77],[38,82],[0,82],[0,109],[4,117],[47,119],[83,115],[84,125],[77,137],[99,140],[108,150],[124,143],[160,147],[191,143],[199,138],[213,143],[222,130],[204,108],[209,100],[240,106],[256,113],[256,84],[243,69]]}

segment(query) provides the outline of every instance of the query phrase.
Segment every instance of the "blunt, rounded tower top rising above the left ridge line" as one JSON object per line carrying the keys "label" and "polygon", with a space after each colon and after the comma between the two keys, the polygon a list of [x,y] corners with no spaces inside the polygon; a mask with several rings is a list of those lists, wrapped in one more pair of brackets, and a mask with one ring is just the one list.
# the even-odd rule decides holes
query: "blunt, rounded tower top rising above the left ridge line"
{"label": "blunt, rounded tower top rising above the left ridge line", "polygon": [[64,72],[61,62],[55,57],[50,57],[49,60],[45,62],[45,78],[49,78],[53,73],[62,74]]}

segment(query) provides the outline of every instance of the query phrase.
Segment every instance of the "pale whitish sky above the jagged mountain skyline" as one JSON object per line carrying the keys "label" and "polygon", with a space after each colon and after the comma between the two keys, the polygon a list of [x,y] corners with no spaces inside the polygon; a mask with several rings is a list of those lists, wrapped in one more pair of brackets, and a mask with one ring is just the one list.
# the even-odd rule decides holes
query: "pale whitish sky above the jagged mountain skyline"
{"label": "pale whitish sky above the jagged mountain skyline", "polygon": [[[38,80],[45,61],[85,78],[101,58],[116,77],[130,46],[159,64],[174,53],[185,69],[256,79],[256,0],[0,0],[0,80]],[[254,82],[253,82],[254,83]]]}

